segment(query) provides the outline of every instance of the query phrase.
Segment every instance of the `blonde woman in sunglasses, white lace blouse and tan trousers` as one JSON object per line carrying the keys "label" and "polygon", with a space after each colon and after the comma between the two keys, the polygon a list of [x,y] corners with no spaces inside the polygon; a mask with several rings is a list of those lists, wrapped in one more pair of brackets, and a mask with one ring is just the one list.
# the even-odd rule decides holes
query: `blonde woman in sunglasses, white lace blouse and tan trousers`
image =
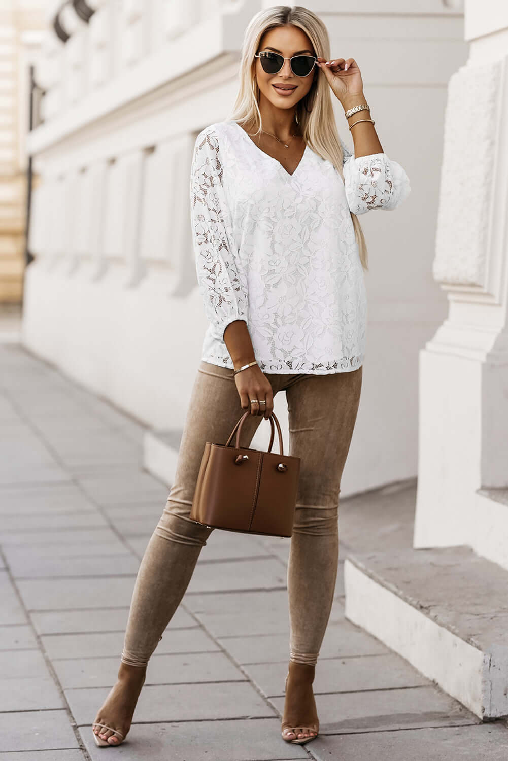
{"label": "blonde woman in sunglasses, white lace blouse and tan trousers", "polygon": [[[366,342],[356,215],[395,209],[410,186],[382,151],[356,61],[330,59],[311,11],[280,5],[252,18],[240,83],[232,118],[203,129],[194,146],[193,244],[210,324],[174,483],[136,579],[118,680],[94,722],[101,744],[118,745],[129,731],[146,664],[212,532],[189,517],[204,443],[225,442],[250,409],[248,447],[280,390],[289,454],[301,457],[281,731],[292,743],[318,734],[312,682],[334,597],[340,478]],[[346,112],[354,155],[337,134],[331,95]]]}

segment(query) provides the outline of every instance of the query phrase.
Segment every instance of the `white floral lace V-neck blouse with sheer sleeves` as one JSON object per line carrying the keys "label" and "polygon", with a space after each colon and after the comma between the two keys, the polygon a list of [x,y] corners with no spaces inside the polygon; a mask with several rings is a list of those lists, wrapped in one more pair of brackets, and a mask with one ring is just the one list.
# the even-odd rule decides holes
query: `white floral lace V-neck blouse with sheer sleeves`
{"label": "white floral lace V-neck blouse with sheer sleeves", "polygon": [[190,217],[209,319],[203,360],[233,368],[223,335],[245,320],[265,373],[363,364],[366,288],[350,210],[395,209],[411,186],[385,153],[354,158],[342,147],[344,182],[308,145],[289,174],[232,120],[197,136]]}

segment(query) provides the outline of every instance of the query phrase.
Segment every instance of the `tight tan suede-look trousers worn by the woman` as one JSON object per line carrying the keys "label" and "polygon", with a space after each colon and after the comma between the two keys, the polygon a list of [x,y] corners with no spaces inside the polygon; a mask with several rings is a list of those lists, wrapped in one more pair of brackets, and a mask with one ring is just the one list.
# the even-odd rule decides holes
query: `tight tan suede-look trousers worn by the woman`
{"label": "tight tan suede-look trousers worn by the woman", "polygon": [[[330,617],[338,561],[340,478],[350,448],[363,368],[329,375],[270,374],[275,396],[286,391],[289,451],[301,457],[299,491],[289,552],[292,661],[315,664]],[[122,661],[144,666],[187,589],[212,528],[190,520],[190,507],[206,441],[225,444],[241,409],[233,371],[200,361],[181,439],[174,483],[139,567]],[[241,447],[249,447],[263,416],[244,421]],[[275,437],[273,451],[278,451]]]}

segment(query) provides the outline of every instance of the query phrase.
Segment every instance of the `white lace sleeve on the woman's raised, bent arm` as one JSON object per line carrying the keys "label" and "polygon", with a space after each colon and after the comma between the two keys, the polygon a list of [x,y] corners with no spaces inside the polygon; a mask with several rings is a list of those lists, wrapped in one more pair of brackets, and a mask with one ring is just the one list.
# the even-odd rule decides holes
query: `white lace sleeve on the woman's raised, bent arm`
{"label": "white lace sleeve on the woman's raised, bent arm", "polygon": [[347,203],[353,214],[370,209],[396,209],[411,193],[409,177],[397,161],[385,153],[355,158],[340,139],[343,148],[343,175]]}

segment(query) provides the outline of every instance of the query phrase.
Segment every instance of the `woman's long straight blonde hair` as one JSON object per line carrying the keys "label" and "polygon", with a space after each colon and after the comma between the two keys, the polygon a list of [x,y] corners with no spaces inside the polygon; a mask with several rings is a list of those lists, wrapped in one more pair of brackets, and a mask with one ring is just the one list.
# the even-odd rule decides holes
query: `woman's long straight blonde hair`
{"label": "woman's long straight blonde hair", "polygon": [[[261,37],[270,29],[292,24],[299,27],[311,40],[315,55],[330,59],[330,40],[327,29],[315,13],[303,8],[302,5],[274,5],[259,11],[251,18],[244,32],[241,46],[240,88],[233,106],[232,113],[227,117],[240,123],[254,124],[259,134],[261,130],[261,114],[259,110],[260,90],[257,86],[254,54],[257,53]],[[315,67],[318,68],[318,67]],[[296,120],[302,129],[302,136],[308,147],[321,158],[331,161],[343,178],[343,150],[340,144],[334,110],[331,104],[330,85],[324,76],[314,75],[315,80],[308,94],[299,100],[296,106]],[[305,108],[304,101],[308,103]],[[367,246],[360,227],[358,217],[350,212],[353,228],[358,243],[359,258],[363,269],[367,266]]]}

